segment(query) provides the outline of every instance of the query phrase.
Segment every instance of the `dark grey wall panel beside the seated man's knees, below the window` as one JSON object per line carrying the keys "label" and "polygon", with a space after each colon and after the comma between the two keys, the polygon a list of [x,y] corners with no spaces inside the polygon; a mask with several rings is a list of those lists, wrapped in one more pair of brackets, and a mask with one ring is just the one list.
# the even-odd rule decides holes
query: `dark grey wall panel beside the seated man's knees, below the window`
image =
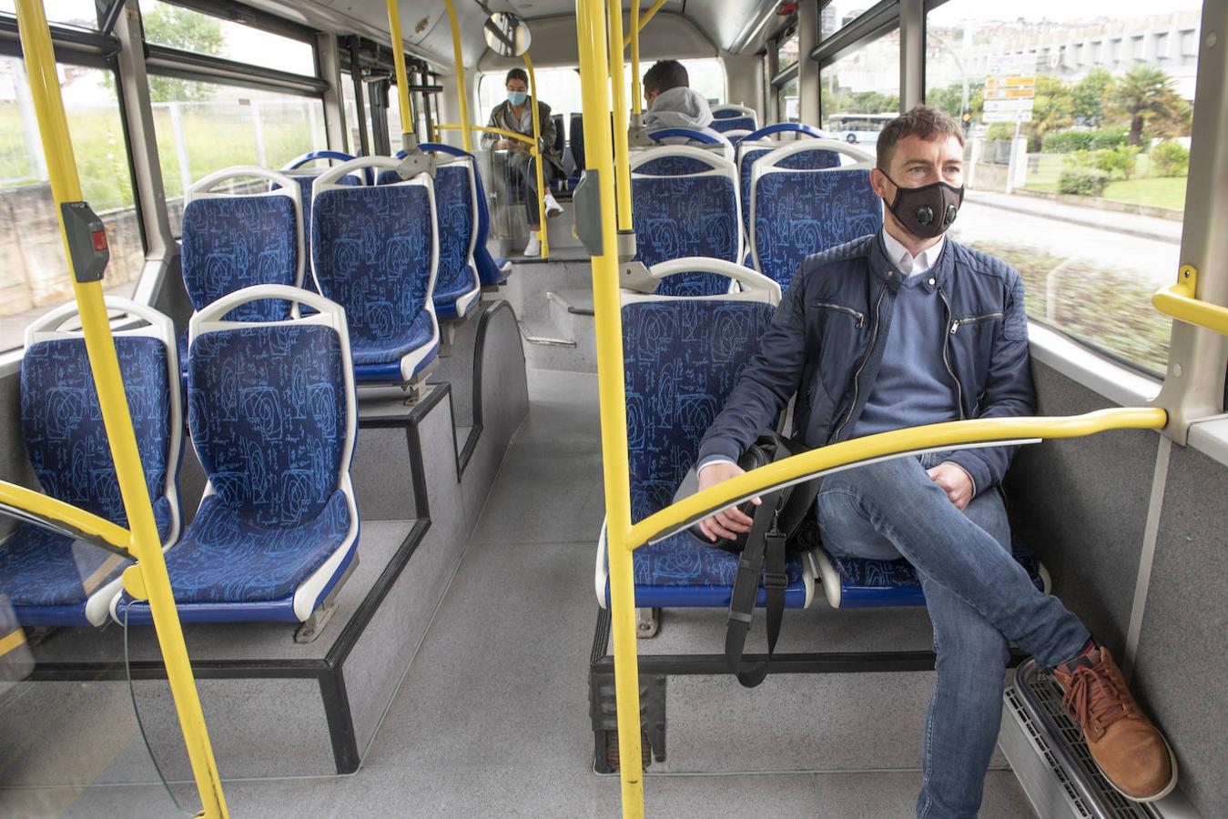
{"label": "dark grey wall panel beside the seated man's knees, below the window", "polygon": [[[1040,362],[1040,415],[1110,406]],[[1130,624],[1159,436],[1116,431],[1023,447],[1007,475],[1016,533],[1054,578],[1054,592],[1117,656]]]}

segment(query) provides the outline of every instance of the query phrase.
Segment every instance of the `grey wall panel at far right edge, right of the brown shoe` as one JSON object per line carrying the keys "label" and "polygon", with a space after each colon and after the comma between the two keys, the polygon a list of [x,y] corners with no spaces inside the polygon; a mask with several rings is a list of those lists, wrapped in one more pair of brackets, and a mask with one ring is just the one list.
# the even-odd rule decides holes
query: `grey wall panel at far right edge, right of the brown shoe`
{"label": "grey wall panel at far right edge, right of the brown shoe", "polygon": [[1203,817],[1228,815],[1228,468],[1173,447],[1133,688],[1168,733],[1180,787]]}

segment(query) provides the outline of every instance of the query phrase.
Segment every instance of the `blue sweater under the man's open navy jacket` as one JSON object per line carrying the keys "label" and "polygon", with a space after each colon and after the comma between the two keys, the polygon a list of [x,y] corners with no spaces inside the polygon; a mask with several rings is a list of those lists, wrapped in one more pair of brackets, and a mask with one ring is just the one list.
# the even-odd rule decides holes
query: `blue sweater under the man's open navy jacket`
{"label": "blue sweater under the man's open navy jacket", "polygon": [[959,420],[955,378],[942,359],[947,311],[933,280],[922,273],[901,284],[883,365],[851,437]]}

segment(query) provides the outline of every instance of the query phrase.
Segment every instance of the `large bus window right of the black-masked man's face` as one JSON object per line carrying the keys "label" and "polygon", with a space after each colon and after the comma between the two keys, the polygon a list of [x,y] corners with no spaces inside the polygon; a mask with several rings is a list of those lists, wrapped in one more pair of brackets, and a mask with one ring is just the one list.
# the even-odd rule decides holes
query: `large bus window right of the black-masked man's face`
{"label": "large bus window right of the black-masked man's face", "polygon": [[[975,206],[953,235],[1019,269],[1034,320],[1153,375],[1168,363],[1151,297],[1176,275],[1201,10],[952,0],[926,17],[926,101],[968,140]],[[1104,45],[1122,31],[1129,54]]]}

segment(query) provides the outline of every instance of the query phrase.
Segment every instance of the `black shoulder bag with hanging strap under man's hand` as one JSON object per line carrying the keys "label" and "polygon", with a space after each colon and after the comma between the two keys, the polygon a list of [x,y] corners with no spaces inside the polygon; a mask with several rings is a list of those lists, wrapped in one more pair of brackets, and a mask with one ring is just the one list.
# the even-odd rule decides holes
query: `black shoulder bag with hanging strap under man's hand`
{"label": "black shoulder bag with hanging strap under man's hand", "polygon": [[[799,442],[791,441],[776,432],[769,432],[759,436],[738,458],[738,465],[750,472],[804,451],[806,447]],[[729,664],[729,670],[747,688],[759,685],[768,677],[768,667],[776,651],[776,640],[780,637],[780,626],[785,616],[785,588],[788,586],[785,561],[788,540],[806,521],[806,517],[814,513],[813,506],[818,494],[818,480],[793,484],[761,495],[763,503],[760,506],[749,501],[740,505],[738,508],[750,516],[754,524],[749,533],[736,540],[722,538],[712,543],[704,535],[698,523],[690,528],[690,533],[705,546],[740,555],[738,573],[733,581],[733,594],[729,599],[725,658]],[[679,491],[679,496],[684,494],[691,495],[694,490]],[[768,659],[747,667],[742,661],[742,654],[747,645],[747,634],[750,631],[755,598],[759,596],[760,575],[766,596]]]}

